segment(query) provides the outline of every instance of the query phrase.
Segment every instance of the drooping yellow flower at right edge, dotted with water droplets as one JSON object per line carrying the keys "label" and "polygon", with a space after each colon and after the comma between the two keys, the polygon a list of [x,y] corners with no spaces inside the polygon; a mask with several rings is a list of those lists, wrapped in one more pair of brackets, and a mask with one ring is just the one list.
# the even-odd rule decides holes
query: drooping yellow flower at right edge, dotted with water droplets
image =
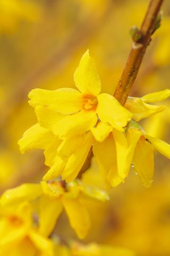
{"label": "drooping yellow flower at right edge, dotted with water droplets", "polygon": [[170,159],[170,145],[163,140],[147,135],[135,122],[128,125],[126,139],[128,142],[126,148],[129,150],[126,161],[129,164],[132,162],[134,171],[139,175],[143,185],[150,187],[154,174],[154,148]]}

